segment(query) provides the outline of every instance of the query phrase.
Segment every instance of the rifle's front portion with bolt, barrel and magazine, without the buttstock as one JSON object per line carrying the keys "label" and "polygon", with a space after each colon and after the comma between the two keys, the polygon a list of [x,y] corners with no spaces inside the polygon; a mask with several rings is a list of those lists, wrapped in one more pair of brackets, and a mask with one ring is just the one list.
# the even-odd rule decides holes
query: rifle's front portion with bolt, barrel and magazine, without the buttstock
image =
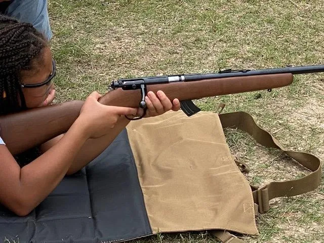
{"label": "rifle's front portion with bolt, barrel and magazine, without the buttstock", "polygon": [[[120,78],[110,84],[109,88],[112,91],[106,97],[106,101],[115,106],[145,108],[146,93],[162,90],[170,100],[178,98],[181,109],[190,116],[200,111],[191,101],[193,99],[257,90],[271,91],[273,88],[292,84],[295,74],[323,71],[324,65],[314,65],[259,70],[226,69],[218,73]],[[140,90],[140,92],[134,92],[134,90]]]}

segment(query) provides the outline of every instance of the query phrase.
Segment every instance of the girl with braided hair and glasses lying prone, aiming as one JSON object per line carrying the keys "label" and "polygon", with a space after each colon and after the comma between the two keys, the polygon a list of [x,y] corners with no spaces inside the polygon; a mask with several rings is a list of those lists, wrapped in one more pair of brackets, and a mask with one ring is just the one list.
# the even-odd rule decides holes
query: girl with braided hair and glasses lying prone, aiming
{"label": "girl with braided hair and glasses lying prone, aiming", "polygon": [[[50,105],[55,96],[55,70],[45,37],[31,24],[0,15],[0,114]],[[14,156],[22,152],[24,146],[19,146],[19,142],[6,146],[11,132],[0,131],[3,138],[0,139],[1,204],[17,215],[29,214],[66,174],[83,168],[113,141],[129,123],[125,115],[139,113],[136,108],[103,105],[98,102],[100,97],[94,92],[85,102],[60,105],[59,114],[66,111],[69,117],[75,116],[75,121],[65,134],[32,149],[31,152],[39,156],[28,156],[27,163],[19,161],[21,156]],[[161,91],[156,95],[149,92],[146,103],[146,116],[180,108],[178,99],[171,102]],[[47,126],[51,124],[55,126],[55,122],[47,123]],[[27,129],[21,123],[17,126]],[[42,136],[46,128],[39,127],[37,132]]]}

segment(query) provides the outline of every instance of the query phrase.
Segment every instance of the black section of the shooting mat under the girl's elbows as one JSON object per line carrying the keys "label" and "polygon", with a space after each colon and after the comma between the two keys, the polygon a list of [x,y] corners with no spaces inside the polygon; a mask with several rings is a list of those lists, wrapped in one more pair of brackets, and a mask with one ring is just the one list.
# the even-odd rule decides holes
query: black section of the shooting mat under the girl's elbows
{"label": "black section of the shooting mat under the girl's elbows", "polygon": [[28,216],[0,204],[0,242],[109,242],[151,233],[126,130]]}

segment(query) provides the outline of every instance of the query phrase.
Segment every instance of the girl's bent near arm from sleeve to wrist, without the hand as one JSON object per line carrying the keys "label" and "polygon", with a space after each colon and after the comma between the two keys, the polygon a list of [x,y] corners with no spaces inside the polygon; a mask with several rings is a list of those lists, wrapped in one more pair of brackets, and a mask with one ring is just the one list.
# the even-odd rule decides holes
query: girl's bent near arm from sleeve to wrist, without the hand
{"label": "girl's bent near arm from sleeve to wrist, without the hand", "polygon": [[62,180],[87,139],[75,123],[57,144],[22,169],[0,145],[0,202],[19,216],[29,214]]}

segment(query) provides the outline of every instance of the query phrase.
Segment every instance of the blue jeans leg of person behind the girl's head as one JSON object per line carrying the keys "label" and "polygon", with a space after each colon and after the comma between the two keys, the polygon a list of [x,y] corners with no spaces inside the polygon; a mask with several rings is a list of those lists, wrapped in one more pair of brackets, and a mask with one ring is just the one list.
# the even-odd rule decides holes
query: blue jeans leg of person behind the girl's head
{"label": "blue jeans leg of person behind the girl's head", "polygon": [[5,14],[20,22],[31,23],[48,40],[52,38],[47,0],[13,0]]}

